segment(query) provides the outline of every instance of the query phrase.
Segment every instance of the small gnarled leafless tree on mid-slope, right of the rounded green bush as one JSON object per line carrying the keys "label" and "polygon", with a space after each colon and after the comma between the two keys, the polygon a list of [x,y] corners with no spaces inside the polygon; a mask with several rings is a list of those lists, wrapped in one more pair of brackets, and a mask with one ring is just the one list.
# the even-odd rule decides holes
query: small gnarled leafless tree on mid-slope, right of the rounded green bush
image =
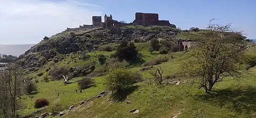
{"label": "small gnarled leafless tree on mid-slope, right of the rounded green bush", "polygon": [[154,80],[156,84],[161,85],[163,82],[163,70],[160,66],[158,68],[153,68],[153,70],[150,71],[150,74],[154,77]]}

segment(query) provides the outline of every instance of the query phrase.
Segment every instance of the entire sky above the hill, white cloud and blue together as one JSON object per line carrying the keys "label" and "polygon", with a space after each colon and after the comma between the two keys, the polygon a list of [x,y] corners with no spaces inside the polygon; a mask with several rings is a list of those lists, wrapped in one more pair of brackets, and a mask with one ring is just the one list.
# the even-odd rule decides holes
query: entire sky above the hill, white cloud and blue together
{"label": "entire sky above the hill, white cloud and blue together", "polygon": [[205,28],[215,18],[255,39],[255,6],[255,0],[0,0],[0,44],[37,44],[67,27],[92,24],[94,15],[130,23],[136,12],[158,13],[181,29]]}

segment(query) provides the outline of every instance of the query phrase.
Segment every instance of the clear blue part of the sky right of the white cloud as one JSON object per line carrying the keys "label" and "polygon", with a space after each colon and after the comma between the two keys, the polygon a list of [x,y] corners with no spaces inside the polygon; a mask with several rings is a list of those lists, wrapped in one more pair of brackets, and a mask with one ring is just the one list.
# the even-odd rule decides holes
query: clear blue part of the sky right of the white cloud
{"label": "clear blue part of the sky right of the white cloud", "polygon": [[238,30],[243,30],[248,38],[256,38],[256,1],[223,1],[223,0],[127,0],[117,2],[93,1],[90,3],[103,7],[105,13],[113,18],[132,22],[135,12],[158,13],[159,19],[167,19],[182,29],[190,27],[205,28],[209,19],[217,18],[220,24],[233,24]]}

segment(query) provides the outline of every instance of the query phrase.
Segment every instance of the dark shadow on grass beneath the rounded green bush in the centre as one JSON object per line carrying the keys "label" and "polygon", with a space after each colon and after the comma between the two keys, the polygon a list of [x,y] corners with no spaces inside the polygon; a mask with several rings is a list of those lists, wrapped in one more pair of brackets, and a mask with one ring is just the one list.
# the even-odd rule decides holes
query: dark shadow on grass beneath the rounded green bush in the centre
{"label": "dark shadow on grass beneath the rounded green bush in the centre", "polygon": [[117,100],[117,101],[124,101],[127,98],[127,96],[129,94],[133,93],[138,87],[139,87],[138,85],[135,85],[130,89],[115,92],[114,94],[112,94],[112,99]]}

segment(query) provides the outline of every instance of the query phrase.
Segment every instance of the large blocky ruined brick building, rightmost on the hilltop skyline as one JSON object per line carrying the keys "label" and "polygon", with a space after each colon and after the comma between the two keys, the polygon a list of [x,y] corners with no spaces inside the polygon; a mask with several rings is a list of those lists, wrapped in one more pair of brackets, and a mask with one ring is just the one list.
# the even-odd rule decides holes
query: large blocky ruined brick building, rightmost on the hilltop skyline
{"label": "large blocky ruined brick building, rightmost on the hilltop skyline", "polygon": [[155,13],[135,13],[135,20],[133,21],[133,25],[142,25],[142,26],[150,26],[150,25],[158,25],[158,26],[170,26],[175,27],[175,25],[170,24],[169,20],[159,20],[159,15]]}

